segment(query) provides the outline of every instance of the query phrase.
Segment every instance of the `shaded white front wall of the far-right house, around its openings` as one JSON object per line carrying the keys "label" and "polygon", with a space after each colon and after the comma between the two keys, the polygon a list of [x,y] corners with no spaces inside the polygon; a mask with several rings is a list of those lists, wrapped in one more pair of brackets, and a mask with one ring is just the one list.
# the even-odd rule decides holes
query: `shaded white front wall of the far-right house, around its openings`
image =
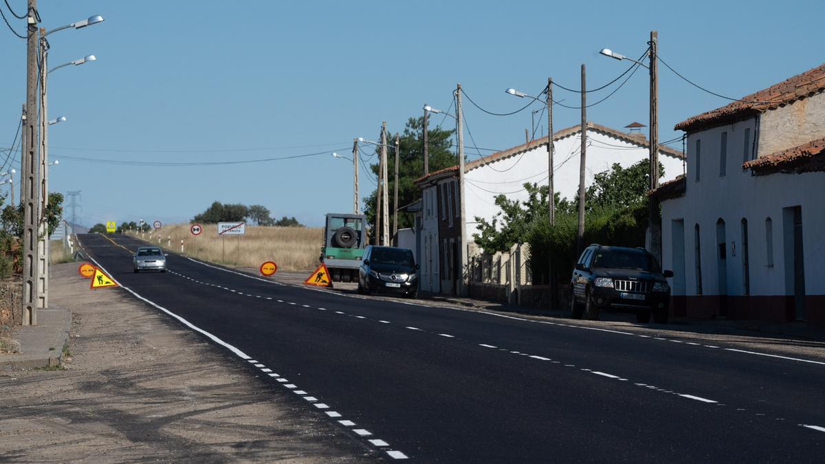
{"label": "shaded white front wall of the far-right house, around its openings", "polygon": [[[702,294],[719,295],[716,221],[722,218],[726,229],[726,278],[728,295],[743,294],[741,220],[747,219],[749,243],[750,294],[786,295],[785,232],[783,208],[802,206],[805,291],[825,294],[825,173],[771,174],[752,176],[742,170],[743,132],[755,120],[741,121],[703,130],[688,136],[686,193],[662,202],[662,265],[673,267],[672,220],[685,223],[685,294],[696,294],[694,226],[700,225]],[[722,132],[728,132],[726,174],[719,176]],[[700,180],[695,181],[695,142],[701,140]],[[762,147],[760,147],[761,149]],[[763,154],[761,151],[760,155]],[[766,253],[765,220],[773,223],[773,266]],[[733,256],[733,242],[736,256]],[[672,279],[671,279],[672,281]],[[674,295],[676,288],[674,287]]]}

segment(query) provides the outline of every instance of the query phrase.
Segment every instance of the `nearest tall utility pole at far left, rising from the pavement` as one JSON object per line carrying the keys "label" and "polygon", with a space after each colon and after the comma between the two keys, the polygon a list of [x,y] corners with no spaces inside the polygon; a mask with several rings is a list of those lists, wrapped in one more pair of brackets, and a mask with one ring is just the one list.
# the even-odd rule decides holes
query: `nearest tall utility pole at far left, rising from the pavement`
{"label": "nearest tall utility pole at far left, rising from the pavement", "polygon": [[[26,108],[37,107],[37,0],[28,0],[26,17]],[[45,72],[45,69],[44,69]],[[23,194],[23,293],[22,324],[37,324],[37,230],[40,220],[40,188],[37,185],[37,117],[26,117],[26,146],[21,152],[23,171],[21,184]]]}

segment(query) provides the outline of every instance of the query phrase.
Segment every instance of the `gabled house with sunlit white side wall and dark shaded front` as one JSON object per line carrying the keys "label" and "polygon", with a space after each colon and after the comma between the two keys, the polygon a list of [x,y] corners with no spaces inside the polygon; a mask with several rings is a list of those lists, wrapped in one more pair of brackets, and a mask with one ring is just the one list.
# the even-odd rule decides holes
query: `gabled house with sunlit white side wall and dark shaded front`
{"label": "gabled house with sunlit white side wall and dark shaded front", "polygon": [[[553,137],[554,190],[569,199],[578,190],[581,134],[581,126],[574,125],[555,132]],[[460,225],[464,225],[471,244],[473,234],[478,232],[475,218],[492,220],[499,212],[496,196],[504,194],[512,200],[526,200],[525,182],[547,185],[547,143],[548,138],[544,137],[466,163],[464,220],[459,217],[458,166],[417,179],[422,189],[422,228],[418,231],[422,237],[422,249],[418,250],[422,291],[456,292],[460,276]],[[680,150],[662,145],[659,154],[666,180],[684,173]],[[594,174],[610,169],[613,163],[628,167],[647,158],[648,141],[644,135],[587,123],[586,186]]]}

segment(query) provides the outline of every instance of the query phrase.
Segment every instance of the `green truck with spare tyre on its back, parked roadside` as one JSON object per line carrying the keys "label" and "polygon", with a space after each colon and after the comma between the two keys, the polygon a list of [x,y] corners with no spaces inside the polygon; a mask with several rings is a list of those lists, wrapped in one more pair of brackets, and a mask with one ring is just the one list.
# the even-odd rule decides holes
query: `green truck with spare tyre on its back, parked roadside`
{"label": "green truck with spare tyre on its back, parked roadside", "polygon": [[327,265],[332,282],[358,282],[358,268],[366,245],[365,215],[327,214],[321,262]]}

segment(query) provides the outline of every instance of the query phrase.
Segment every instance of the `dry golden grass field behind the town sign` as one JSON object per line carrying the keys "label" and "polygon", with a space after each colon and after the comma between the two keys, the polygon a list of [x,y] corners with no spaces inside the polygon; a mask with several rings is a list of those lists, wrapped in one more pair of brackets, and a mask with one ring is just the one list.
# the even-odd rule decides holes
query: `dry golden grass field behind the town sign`
{"label": "dry golden grass field behind the town sign", "polygon": [[[144,240],[175,253],[210,263],[243,268],[258,268],[265,261],[274,261],[281,271],[312,271],[321,255],[320,227],[265,227],[247,225],[246,234],[219,237],[217,225],[203,225],[200,235],[192,235],[188,224],[164,225],[163,229],[145,233]],[[134,234],[134,233],[132,233]],[[171,245],[170,238],[171,237]],[[224,253],[225,247],[225,253]]]}

